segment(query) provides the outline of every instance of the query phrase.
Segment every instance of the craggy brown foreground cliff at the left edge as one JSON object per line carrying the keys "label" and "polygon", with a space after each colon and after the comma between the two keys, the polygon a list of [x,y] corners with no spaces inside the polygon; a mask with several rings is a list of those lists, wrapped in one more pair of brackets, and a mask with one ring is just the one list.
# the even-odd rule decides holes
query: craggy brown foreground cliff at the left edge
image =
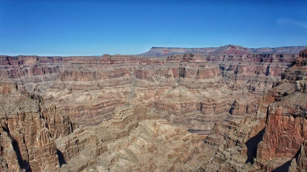
{"label": "craggy brown foreground cliff at the left edge", "polygon": [[12,80],[1,80],[1,87],[1,171],[58,170],[54,139],[72,133],[77,124],[64,111],[45,107],[39,96],[18,91]]}

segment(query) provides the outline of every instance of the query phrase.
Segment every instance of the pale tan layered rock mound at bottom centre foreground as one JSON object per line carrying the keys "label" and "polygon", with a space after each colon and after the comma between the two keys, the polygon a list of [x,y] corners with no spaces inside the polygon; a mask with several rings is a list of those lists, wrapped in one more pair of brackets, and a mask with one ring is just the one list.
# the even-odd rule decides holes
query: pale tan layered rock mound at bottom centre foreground
{"label": "pale tan layered rock mound at bottom centre foreground", "polygon": [[[62,171],[197,171],[207,148],[197,134],[170,125],[142,105],[56,141]],[[146,120],[145,120],[146,119]]]}

